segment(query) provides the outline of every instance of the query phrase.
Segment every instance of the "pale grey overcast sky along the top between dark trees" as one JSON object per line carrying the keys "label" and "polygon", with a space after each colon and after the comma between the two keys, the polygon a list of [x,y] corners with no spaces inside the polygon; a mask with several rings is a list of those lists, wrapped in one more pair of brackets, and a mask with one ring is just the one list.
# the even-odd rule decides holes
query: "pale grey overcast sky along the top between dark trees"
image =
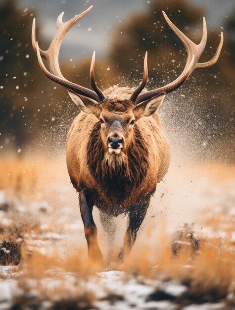
{"label": "pale grey overcast sky along the top between dark trees", "polygon": [[[218,28],[227,16],[234,12],[235,0],[188,0],[205,8],[208,27]],[[177,3],[177,1],[176,1]],[[74,26],[63,40],[61,57],[83,57],[84,53],[104,55],[109,50],[110,39],[118,25],[133,13],[144,14],[151,0],[18,0],[22,10],[34,7],[36,22],[42,26],[42,34],[48,42],[56,30],[57,16],[64,11],[63,20],[72,18],[90,5],[93,9]]]}

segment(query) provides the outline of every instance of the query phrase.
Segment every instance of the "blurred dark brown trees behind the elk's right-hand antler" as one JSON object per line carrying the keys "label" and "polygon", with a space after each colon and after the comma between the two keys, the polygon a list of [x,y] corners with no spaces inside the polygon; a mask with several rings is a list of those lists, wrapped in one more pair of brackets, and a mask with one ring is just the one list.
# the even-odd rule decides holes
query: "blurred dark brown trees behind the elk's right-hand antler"
{"label": "blurred dark brown trees behind the elk's right-hand antler", "polygon": [[[126,75],[129,86],[138,85],[141,80],[145,51],[148,51],[148,89],[168,84],[185,66],[185,48],[167,25],[162,10],[193,42],[200,42],[204,15],[202,8],[193,6],[187,0],[151,1],[146,14],[133,16],[116,30],[110,53],[110,58],[117,63],[121,75]],[[219,142],[223,144],[222,153],[225,144],[226,150],[228,147],[231,149],[234,139],[235,61],[231,56],[234,43],[229,35],[234,23],[235,15],[224,30],[225,42],[219,63],[208,69],[194,71],[184,86],[168,95],[166,102],[170,102],[171,106],[165,103],[162,108],[168,118],[171,118],[172,129],[169,128],[169,131],[180,128],[176,137],[183,130],[185,137],[193,140],[195,133],[199,132],[200,146],[203,143],[208,146]],[[219,41],[220,31],[208,31],[207,46],[200,62],[213,57]],[[124,79],[123,84],[125,83]]]}

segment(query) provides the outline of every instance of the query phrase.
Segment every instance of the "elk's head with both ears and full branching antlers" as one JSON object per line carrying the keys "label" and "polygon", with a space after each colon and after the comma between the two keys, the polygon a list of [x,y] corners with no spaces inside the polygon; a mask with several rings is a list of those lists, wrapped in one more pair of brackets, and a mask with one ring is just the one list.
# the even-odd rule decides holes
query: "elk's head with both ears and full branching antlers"
{"label": "elk's head with both ears and full branching antlers", "polygon": [[[64,86],[68,90],[68,93],[73,102],[76,103],[76,105],[83,112],[93,113],[97,118],[97,121],[100,122],[100,135],[105,152],[109,152],[112,155],[118,155],[121,152],[125,154],[132,140],[135,122],[138,122],[141,117],[152,115],[162,103],[165,94],[170,93],[180,87],[194,69],[207,68],[216,63],[223,45],[223,33],[221,33],[220,44],[214,57],[210,61],[198,63],[198,60],[206,45],[207,32],[205,18],[203,17],[202,39],[201,42],[196,45],[170,21],[170,19],[163,11],[163,15],[168,25],[182,41],[188,53],[187,62],[183,72],[170,84],[151,91],[143,92],[141,94],[146,85],[148,76],[146,52],[144,57],[143,78],[140,86],[133,92],[130,98],[122,101],[113,101],[105,98],[102,91],[95,83],[95,52],[92,57],[90,70],[93,91],[65,79],[59,68],[58,54],[64,35],[78,20],[86,15],[91,10],[91,8],[92,6],[67,22],[62,22],[63,13],[61,13],[57,19],[57,32],[47,51],[41,50],[38,46],[38,43],[36,42],[34,19],[32,44],[34,50],[37,52],[39,64],[47,77]],[[42,57],[47,60],[49,71],[45,67]]]}

